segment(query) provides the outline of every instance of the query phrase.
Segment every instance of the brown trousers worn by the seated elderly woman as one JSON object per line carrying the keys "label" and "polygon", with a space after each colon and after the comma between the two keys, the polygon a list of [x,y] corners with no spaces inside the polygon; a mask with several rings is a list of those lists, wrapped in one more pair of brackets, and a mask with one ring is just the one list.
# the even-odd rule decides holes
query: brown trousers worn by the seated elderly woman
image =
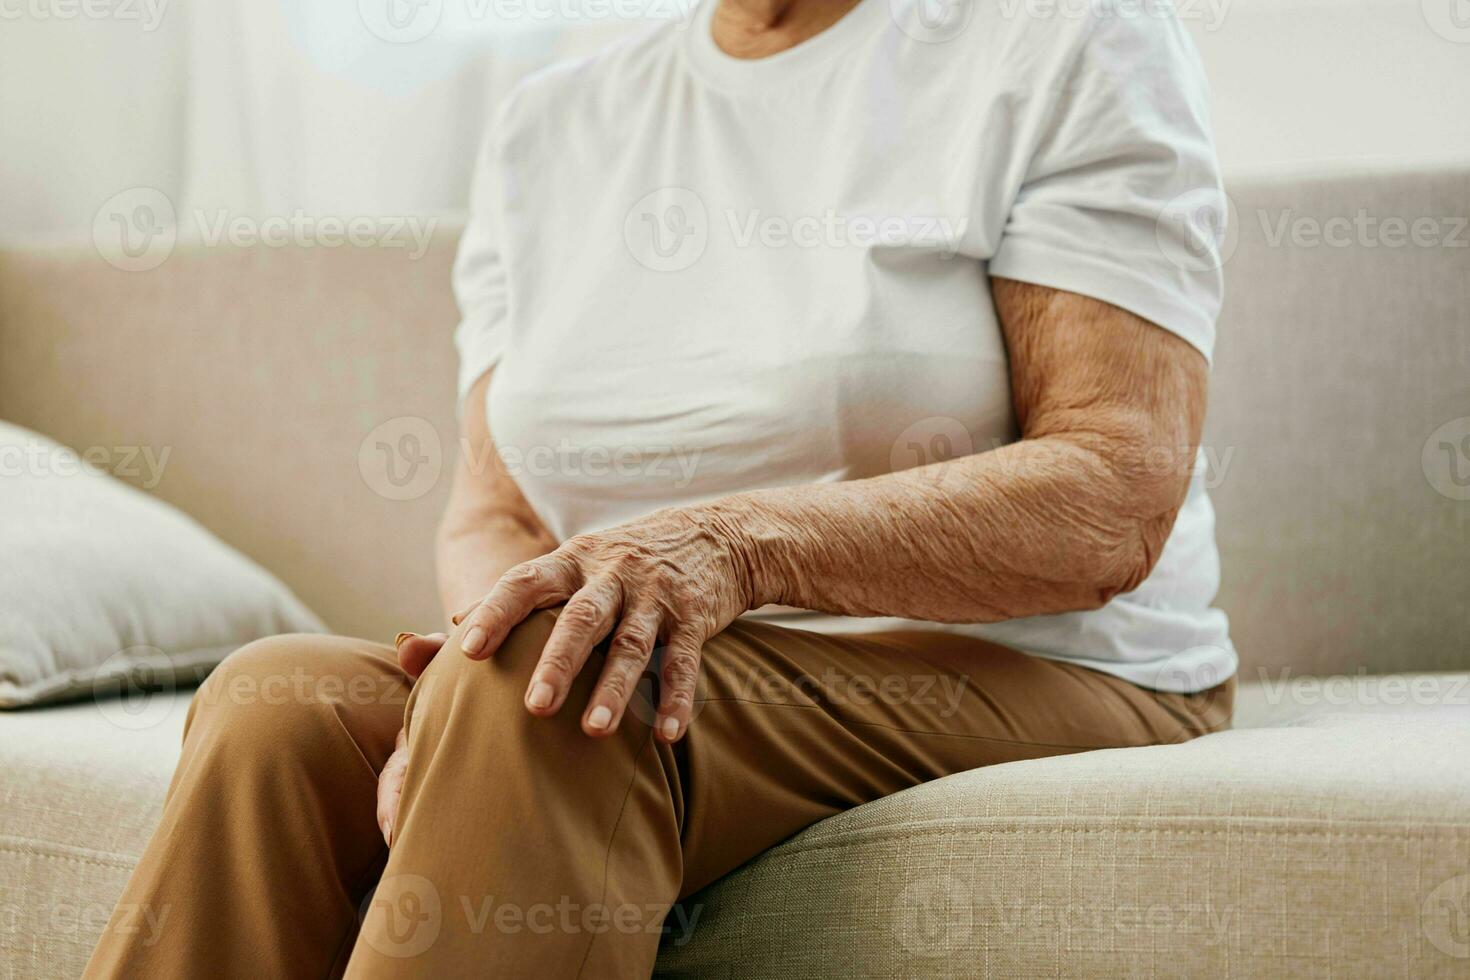
{"label": "brown trousers worn by the seated elderly woman", "polygon": [[[704,648],[682,742],[651,738],[651,679],[591,739],[600,654],[557,717],[522,707],[554,617],[488,661],[451,635],[417,683],[357,639],[226,658],[85,976],[647,977],[662,936],[697,933],[681,899],[823,817],[979,765],[1182,742],[1233,698],[945,633],[738,621]],[[375,792],[404,723],[390,851]]]}

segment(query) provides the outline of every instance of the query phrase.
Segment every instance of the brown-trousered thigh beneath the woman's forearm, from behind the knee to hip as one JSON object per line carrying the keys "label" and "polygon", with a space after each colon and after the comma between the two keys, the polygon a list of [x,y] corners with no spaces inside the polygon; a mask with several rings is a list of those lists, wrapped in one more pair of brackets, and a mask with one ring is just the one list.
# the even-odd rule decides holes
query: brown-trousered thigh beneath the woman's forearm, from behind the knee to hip
{"label": "brown-trousered thigh beneath the woman's forearm, from behind the knee to hip", "polygon": [[1158,693],[950,633],[738,621],[706,644],[681,751],[682,893],[823,817],[951,773],[1186,741],[1229,721],[1232,693]]}

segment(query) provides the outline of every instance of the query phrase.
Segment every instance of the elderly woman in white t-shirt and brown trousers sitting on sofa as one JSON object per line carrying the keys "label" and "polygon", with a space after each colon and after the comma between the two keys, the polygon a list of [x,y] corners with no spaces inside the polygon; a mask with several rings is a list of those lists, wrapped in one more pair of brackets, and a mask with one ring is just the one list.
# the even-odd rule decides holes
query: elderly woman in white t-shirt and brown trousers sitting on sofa
{"label": "elderly woman in white t-shirt and brown trousers sitting on sofa", "polygon": [[710,0],[519,85],[454,627],[229,657],[88,976],[648,976],[813,821],[1226,724],[1205,116],[1148,6]]}

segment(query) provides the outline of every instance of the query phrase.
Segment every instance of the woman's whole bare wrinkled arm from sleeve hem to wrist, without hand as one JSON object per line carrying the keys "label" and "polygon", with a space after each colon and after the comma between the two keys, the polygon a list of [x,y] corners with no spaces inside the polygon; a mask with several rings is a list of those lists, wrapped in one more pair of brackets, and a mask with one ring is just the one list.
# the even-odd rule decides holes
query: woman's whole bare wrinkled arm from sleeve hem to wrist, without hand
{"label": "woman's whole bare wrinkled arm from sleeve hem to wrist, without hand", "polygon": [[1189,486],[1208,366],[1098,300],[1000,278],[992,295],[1023,438],[698,508],[753,607],[983,623],[1095,608],[1144,580]]}

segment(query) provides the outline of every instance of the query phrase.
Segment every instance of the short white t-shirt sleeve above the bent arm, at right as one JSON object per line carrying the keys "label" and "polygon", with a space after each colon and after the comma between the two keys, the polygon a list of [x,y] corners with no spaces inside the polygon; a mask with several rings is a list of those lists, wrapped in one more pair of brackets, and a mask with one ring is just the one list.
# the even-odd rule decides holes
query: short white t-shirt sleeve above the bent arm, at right
{"label": "short white t-shirt sleeve above the bent arm, at right", "polygon": [[1102,300],[1207,359],[1226,197],[1208,87],[1158,4],[1101,4],[1057,90],[989,273]]}

